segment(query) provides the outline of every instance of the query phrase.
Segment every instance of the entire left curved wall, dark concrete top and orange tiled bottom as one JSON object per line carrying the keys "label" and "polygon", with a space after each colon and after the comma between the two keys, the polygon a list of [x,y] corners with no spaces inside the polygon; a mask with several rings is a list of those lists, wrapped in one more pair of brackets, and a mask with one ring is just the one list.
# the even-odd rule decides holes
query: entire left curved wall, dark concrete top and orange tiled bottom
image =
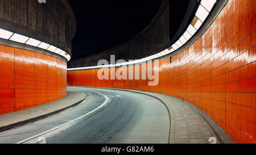
{"label": "entire left curved wall, dark concrete top and orange tiled bottom", "polygon": [[[0,10],[1,30],[43,41],[72,54],[76,22],[67,0],[0,1]],[[40,48],[20,39],[11,41],[11,37],[0,38],[0,114],[65,97],[68,59],[65,51],[49,50],[49,45]]]}

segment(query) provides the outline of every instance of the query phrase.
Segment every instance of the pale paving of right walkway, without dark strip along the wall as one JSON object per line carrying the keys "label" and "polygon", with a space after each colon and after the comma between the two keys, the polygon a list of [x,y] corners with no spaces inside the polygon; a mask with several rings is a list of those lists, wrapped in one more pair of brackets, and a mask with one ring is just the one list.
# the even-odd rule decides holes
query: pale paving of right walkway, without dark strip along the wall
{"label": "pale paving of right walkway, without dark strip along the wall", "polygon": [[138,91],[162,100],[171,114],[171,144],[210,144],[209,138],[217,136],[208,123],[188,104],[169,95]]}

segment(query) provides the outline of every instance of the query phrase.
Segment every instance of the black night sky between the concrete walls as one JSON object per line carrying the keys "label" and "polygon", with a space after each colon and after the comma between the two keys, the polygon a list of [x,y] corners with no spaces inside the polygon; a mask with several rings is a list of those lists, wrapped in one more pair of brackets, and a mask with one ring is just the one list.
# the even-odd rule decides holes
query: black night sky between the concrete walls
{"label": "black night sky between the concrete walls", "polygon": [[72,60],[132,39],[154,18],[162,0],[68,0],[76,17]]}

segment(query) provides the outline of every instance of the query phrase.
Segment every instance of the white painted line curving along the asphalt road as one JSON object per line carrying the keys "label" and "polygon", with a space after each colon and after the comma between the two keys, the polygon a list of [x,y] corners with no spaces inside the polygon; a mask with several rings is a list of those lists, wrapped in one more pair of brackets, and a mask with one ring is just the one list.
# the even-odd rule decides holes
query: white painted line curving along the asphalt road
{"label": "white painted line curving along the asphalt road", "polygon": [[[97,92],[93,92],[93,93],[97,93]],[[95,108],[94,110],[88,112],[88,113],[85,114],[85,115],[80,116],[79,118],[73,119],[73,120],[71,120],[71,121],[69,121],[69,122],[67,122],[67,123],[65,123],[65,124],[62,124],[62,125],[59,125],[59,126],[57,126],[57,127],[55,127],[55,128],[49,129],[49,130],[46,131],[46,132],[42,132],[42,133],[39,133],[38,135],[32,136],[32,137],[30,137],[30,138],[28,138],[28,139],[26,139],[26,140],[19,141],[19,142],[16,143],[16,144],[26,143],[27,141],[30,141],[30,140],[32,140],[32,139],[35,139],[36,137],[45,135],[46,133],[55,131],[56,129],[59,129],[59,128],[61,128],[61,127],[64,127],[65,125],[68,125],[68,124],[70,124],[70,123],[73,123],[73,122],[75,122],[76,120],[81,119],[81,118],[84,118],[85,116],[90,115],[90,114],[92,114],[93,112],[99,110],[100,108],[102,108],[103,106],[105,106],[106,103],[109,102],[109,98],[108,98],[106,95],[104,95],[104,94],[101,94],[101,93],[98,93],[98,94],[104,96],[105,102],[102,103],[102,104],[101,104],[100,106],[98,106],[97,108]]]}

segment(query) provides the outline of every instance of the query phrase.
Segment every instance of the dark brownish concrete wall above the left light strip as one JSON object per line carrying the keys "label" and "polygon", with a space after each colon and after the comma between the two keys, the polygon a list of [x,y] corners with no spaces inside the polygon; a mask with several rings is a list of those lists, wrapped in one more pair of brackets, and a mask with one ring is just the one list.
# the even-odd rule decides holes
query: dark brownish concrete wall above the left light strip
{"label": "dark brownish concrete wall above the left light strip", "polygon": [[67,0],[0,0],[0,27],[53,44],[71,55],[76,23]]}

